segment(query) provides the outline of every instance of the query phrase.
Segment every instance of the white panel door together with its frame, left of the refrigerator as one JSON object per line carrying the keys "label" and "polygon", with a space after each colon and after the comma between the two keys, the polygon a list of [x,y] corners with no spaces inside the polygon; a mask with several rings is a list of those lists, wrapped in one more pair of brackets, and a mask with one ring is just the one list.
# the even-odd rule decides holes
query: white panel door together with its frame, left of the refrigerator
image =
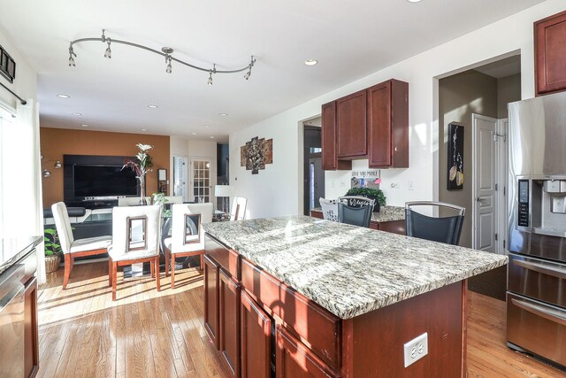
{"label": "white panel door together with its frame, left of the refrigerator", "polygon": [[472,114],[471,248],[504,253],[506,239],[507,119]]}

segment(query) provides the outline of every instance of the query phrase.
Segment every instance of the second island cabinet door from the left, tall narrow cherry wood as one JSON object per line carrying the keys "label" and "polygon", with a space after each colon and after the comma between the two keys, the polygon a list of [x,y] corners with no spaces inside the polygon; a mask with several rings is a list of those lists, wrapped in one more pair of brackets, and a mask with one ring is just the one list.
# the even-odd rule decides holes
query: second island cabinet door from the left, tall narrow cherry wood
{"label": "second island cabinet door from the left, tall narrow cherry wood", "polygon": [[219,276],[219,351],[226,373],[240,376],[240,285],[218,270]]}

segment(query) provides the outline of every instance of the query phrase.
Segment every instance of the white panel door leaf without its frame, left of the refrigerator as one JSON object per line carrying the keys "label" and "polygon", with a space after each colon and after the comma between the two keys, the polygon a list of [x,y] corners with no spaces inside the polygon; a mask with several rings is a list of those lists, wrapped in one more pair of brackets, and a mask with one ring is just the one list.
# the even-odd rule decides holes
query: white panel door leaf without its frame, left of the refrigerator
{"label": "white panel door leaf without its frame, left of the refrigerator", "polygon": [[479,114],[472,115],[473,150],[473,215],[474,230],[472,248],[482,251],[497,251],[497,155],[493,136],[497,120]]}

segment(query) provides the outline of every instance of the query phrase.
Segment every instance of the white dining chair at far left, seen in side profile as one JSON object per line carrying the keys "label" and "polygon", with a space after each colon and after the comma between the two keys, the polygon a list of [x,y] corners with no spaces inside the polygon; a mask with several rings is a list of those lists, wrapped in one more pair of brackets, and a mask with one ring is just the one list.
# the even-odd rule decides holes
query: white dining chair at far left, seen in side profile
{"label": "white dining chair at far left, seen in side profile", "polygon": [[51,212],[53,212],[53,220],[55,220],[55,228],[57,229],[61,250],[63,250],[63,255],[65,256],[63,289],[67,289],[69,277],[71,276],[71,271],[73,271],[74,258],[106,253],[106,247],[110,245],[112,236],[95,236],[75,240],[66,205],[63,202],[52,204]]}

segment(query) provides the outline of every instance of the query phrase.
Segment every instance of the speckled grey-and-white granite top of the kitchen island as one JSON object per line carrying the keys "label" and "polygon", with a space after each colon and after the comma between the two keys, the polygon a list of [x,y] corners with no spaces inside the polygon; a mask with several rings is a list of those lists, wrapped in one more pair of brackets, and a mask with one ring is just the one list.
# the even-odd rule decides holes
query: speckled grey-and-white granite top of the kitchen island
{"label": "speckled grey-and-white granite top of the kitchen island", "polygon": [[508,258],[306,216],[203,224],[341,319],[503,266]]}

